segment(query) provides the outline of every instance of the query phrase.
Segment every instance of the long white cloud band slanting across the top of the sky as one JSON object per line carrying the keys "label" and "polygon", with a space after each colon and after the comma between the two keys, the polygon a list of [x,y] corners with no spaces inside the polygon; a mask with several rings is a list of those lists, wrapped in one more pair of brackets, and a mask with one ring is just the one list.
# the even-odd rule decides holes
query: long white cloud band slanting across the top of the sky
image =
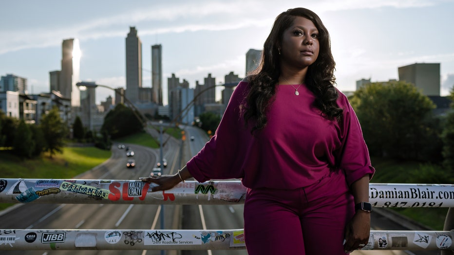
{"label": "long white cloud band slanting across the top of the sky", "polygon": [[[308,8],[317,7],[320,11],[338,11],[363,8],[409,8],[435,5],[442,1],[429,0],[322,0],[308,4]],[[105,9],[106,2],[93,2],[92,8]],[[166,4],[143,3],[143,6],[125,10],[123,13],[111,11],[102,14],[84,16],[83,9],[73,10],[82,15],[72,25],[67,22],[52,22],[52,25],[40,27],[39,19],[32,13],[24,13],[24,18],[30,18],[30,26],[24,30],[16,30],[14,26],[0,30],[3,39],[0,41],[0,55],[7,52],[29,48],[44,48],[59,46],[65,38],[97,39],[104,37],[124,37],[127,26],[143,24],[141,34],[165,34],[194,32],[200,30],[219,31],[232,30],[244,27],[269,26],[277,15],[276,7],[282,11],[287,8],[301,5],[300,1],[288,1],[285,4],[274,0],[234,0],[234,1],[170,1]],[[86,8],[80,6],[79,8]],[[130,7],[131,8],[131,7]],[[49,6],[49,10],[52,10]],[[52,10],[58,12],[59,10]],[[42,14],[39,14],[42,15]],[[101,14],[99,14],[101,15]],[[0,23],[6,22],[1,20]],[[148,28],[147,28],[148,27]],[[151,27],[151,28],[150,28]]]}

